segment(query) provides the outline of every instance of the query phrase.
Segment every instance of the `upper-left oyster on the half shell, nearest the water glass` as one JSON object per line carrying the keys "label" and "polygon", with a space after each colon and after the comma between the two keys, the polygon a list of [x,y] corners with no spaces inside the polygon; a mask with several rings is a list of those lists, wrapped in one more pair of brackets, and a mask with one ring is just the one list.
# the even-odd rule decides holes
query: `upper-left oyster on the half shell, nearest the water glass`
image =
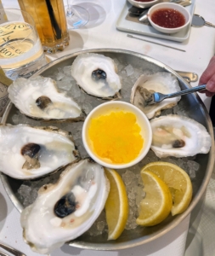
{"label": "upper-left oyster on the half shell, nearest the water glass", "polygon": [[65,93],[59,93],[54,79],[16,79],[8,87],[8,97],[21,113],[34,119],[82,119],[81,108]]}

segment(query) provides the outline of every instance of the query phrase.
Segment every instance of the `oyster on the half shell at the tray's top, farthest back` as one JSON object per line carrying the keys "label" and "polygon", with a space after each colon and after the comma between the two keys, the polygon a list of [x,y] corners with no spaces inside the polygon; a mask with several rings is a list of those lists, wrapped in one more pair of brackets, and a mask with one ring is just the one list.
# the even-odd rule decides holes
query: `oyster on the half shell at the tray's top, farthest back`
{"label": "oyster on the half shell at the tray's top, farthest back", "polygon": [[117,97],[122,85],[115,62],[105,55],[78,55],[71,65],[71,75],[89,95],[102,98]]}

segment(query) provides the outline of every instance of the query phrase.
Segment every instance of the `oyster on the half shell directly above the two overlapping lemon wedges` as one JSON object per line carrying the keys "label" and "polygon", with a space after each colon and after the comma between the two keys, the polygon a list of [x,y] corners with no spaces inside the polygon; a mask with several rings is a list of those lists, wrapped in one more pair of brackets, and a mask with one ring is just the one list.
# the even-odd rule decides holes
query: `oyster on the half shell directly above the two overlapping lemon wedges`
{"label": "oyster on the half shell directly above the two overlapping lemon wedges", "polygon": [[152,119],[150,125],[153,133],[151,149],[160,158],[207,154],[211,148],[210,134],[194,119],[170,114]]}

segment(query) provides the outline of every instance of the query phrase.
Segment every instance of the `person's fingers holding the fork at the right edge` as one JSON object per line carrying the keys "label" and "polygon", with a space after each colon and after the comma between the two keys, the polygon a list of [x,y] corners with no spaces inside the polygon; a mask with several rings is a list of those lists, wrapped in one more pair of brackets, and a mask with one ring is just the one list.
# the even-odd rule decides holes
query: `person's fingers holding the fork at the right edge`
{"label": "person's fingers holding the fork at the right edge", "polygon": [[215,95],[215,56],[212,57],[206,70],[202,73],[199,84],[206,84],[207,90],[202,90],[208,97]]}

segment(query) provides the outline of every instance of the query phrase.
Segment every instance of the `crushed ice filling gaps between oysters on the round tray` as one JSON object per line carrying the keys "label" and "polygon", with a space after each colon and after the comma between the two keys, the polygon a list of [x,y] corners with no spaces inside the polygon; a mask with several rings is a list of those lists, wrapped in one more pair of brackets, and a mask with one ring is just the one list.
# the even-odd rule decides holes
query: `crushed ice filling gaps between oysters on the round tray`
{"label": "crushed ice filling gaps between oysters on the round tray", "polygon": [[[122,101],[129,102],[131,90],[133,84],[143,73],[150,73],[149,70],[143,72],[143,70],[134,68],[130,64],[122,64],[118,60],[114,59],[118,67],[118,74],[122,79]],[[67,96],[71,96],[83,109],[85,113],[90,113],[90,111],[98,106],[99,104],[105,102],[104,100],[98,99],[94,96],[88,96],[80,87],[76,84],[76,81],[71,77],[71,66],[64,68],[59,67],[58,72],[54,73],[51,77],[56,80],[59,91],[64,91]],[[181,115],[187,115],[184,109],[183,102],[179,102],[177,106],[171,109],[162,111],[162,115],[178,113]],[[12,123],[17,124],[28,124],[28,125],[54,125],[65,131],[71,131],[76,146],[82,156],[82,158],[87,157],[88,154],[82,144],[82,122],[75,123],[58,123],[52,122],[47,124],[42,121],[35,119],[30,119],[21,114],[18,110],[12,116]],[[153,151],[144,157],[137,165],[130,167],[129,169],[119,170],[122,180],[124,181],[127,189],[127,196],[129,199],[129,215],[126,225],[126,230],[133,230],[137,227],[136,218],[139,216],[139,202],[144,198],[144,186],[142,178],[139,173],[143,166],[150,162],[160,160],[156,157]],[[168,157],[166,159],[161,159],[173,163],[181,168],[183,168],[189,175],[192,181],[195,180],[195,172],[200,168],[200,165],[195,162],[195,157],[192,158],[181,158],[177,159],[174,157]],[[59,178],[60,172],[55,172],[48,177],[42,177],[38,180],[33,181],[23,181],[18,189],[16,195],[24,207],[30,205],[37,198],[37,191],[46,183],[55,183]],[[99,218],[95,221],[93,226],[87,231],[90,236],[99,236],[105,234],[108,231],[107,224],[105,221],[105,210],[101,212]]]}

